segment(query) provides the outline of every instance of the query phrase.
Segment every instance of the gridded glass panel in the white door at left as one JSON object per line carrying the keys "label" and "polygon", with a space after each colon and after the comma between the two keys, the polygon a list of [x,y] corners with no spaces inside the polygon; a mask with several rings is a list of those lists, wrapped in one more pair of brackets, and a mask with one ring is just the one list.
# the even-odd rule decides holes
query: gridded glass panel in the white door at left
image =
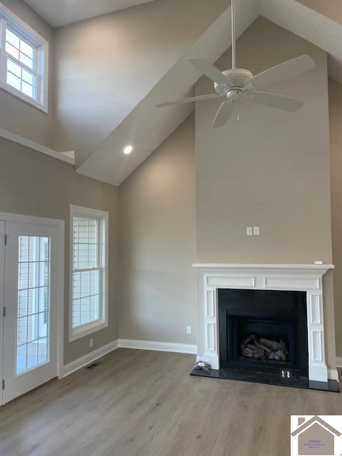
{"label": "gridded glass panel in the white door at left", "polygon": [[49,237],[19,236],[16,373],[50,361]]}

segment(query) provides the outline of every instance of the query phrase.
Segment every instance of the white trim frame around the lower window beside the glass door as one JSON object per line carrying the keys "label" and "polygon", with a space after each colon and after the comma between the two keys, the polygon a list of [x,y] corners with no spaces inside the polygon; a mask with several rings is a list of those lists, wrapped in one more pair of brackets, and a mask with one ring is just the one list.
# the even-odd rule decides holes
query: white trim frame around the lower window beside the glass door
{"label": "white trim frame around the lower window beside the glass door", "polygon": [[[102,229],[105,236],[105,244],[103,246],[105,271],[103,274],[102,316],[97,321],[78,326],[77,328],[73,328],[73,217],[75,215],[102,219]],[[69,342],[72,342],[108,327],[108,212],[71,204],[69,217]]]}

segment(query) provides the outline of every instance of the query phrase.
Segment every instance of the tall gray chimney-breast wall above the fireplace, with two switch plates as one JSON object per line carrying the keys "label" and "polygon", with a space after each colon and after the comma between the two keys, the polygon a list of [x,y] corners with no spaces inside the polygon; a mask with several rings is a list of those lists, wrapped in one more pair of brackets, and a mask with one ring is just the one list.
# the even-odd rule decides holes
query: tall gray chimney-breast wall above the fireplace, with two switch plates
{"label": "tall gray chimney-breast wall above the fireplace, with two switch plates", "polygon": [[[326,53],[257,19],[239,38],[237,67],[254,74],[307,53],[317,67],[267,88],[304,100],[282,113],[242,100],[240,120],[213,130],[219,101],[196,107],[197,261],[226,263],[332,262],[328,77]],[[230,67],[226,53],[217,63]],[[202,78],[197,93],[212,85]],[[259,226],[259,237],[246,227]],[[332,278],[326,277],[328,365],[335,366]]]}

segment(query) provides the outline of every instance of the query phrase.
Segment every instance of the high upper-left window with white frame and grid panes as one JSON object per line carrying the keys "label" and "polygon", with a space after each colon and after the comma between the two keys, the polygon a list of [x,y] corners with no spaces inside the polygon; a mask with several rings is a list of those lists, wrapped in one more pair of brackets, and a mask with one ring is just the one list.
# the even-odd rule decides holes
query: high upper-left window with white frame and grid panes
{"label": "high upper-left window with white frame and grid panes", "polygon": [[48,112],[48,42],[1,2],[0,87]]}

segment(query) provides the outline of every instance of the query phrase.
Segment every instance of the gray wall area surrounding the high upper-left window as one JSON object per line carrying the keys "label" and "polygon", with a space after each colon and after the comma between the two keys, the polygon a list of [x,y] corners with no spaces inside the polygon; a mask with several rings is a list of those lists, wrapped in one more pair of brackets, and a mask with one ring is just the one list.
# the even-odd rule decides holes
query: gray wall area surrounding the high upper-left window
{"label": "gray wall area surrounding the high upper-left window", "polygon": [[0,127],[39,144],[52,147],[53,133],[53,29],[22,0],[1,0],[49,43],[48,114],[0,89]]}

